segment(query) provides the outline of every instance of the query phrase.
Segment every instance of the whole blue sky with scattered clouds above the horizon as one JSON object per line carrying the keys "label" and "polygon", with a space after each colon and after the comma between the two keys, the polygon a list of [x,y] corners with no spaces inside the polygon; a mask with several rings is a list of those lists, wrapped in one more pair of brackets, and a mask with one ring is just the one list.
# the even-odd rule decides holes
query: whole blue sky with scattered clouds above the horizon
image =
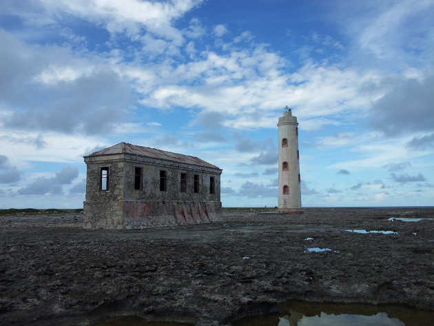
{"label": "whole blue sky with scattered clouds above the horizon", "polygon": [[116,143],[223,169],[278,203],[298,117],[302,205],[434,205],[434,0],[2,0],[0,208],[79,208]]}

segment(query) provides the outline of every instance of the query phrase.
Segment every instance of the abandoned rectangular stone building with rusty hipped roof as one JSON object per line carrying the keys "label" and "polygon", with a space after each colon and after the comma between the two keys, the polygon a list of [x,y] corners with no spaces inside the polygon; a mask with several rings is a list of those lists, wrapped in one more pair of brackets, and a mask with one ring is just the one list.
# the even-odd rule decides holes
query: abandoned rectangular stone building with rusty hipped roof
{"label": "abandoned rectangular stone building with rusty hipped roof", "polygon": [[144,229],[220,220],[222,170],[197,157],[118,143],[84,160],[85,228]]}

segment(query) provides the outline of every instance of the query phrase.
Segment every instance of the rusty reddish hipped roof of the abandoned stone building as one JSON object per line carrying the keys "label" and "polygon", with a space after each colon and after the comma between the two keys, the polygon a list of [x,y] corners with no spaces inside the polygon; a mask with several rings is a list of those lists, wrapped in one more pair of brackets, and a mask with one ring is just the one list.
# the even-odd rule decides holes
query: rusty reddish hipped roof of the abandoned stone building
{"label": "rusty reddish hipped roof of the abandoned stone building", "polygon": [[211,169],[221,170],[220,167],[216,167],[216,165],[212,165],[211,163],[205,162],[195,156],[176,154],[172,152],[166,152],[165,150],[156,150],[156,148],[132,145],[129,143],[118,143],[111,147],[107,147],[104,150],[99,150],[98,152],[94,152],[89,156],[104,156],[104,155],[111,155],[111,154],[132,154],[132,155],[150,157],[152,159],[161,159],[165,161],[186,163],[186,164],[210,167]]}

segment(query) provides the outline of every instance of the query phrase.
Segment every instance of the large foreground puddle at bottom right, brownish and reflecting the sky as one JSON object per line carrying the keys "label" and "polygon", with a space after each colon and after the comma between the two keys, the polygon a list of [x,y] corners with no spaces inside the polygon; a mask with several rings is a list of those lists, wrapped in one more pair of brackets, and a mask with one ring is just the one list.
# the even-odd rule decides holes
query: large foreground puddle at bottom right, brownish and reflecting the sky
{"label": "large foreground puddle at bottom right, brownish and reflecting the sky", "polygon": [[242,318],[234,326],[422,326],[434,312],[393,305],[340,305],[290,301],[278,314]]}

